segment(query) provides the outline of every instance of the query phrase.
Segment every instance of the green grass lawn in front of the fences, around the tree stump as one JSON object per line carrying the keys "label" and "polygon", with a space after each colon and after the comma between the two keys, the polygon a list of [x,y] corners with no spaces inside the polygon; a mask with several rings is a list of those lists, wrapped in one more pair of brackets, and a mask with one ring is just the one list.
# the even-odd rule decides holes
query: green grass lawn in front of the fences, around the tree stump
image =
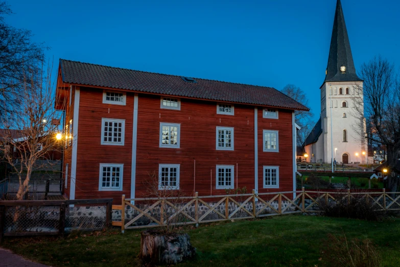
{"label": "green grass lawn in front of the fences, around the tree stump", "polygon": [[[384,266],[400,266],[400,218],[384,222],[322,216],[284,215],[185,229],[197,248],[179,266],[330,266],[328,234],[370,238]],[[117,229],[66,238],[6,238],[1,244],[26,258],[52,266],[137,264],[140,231]]]}

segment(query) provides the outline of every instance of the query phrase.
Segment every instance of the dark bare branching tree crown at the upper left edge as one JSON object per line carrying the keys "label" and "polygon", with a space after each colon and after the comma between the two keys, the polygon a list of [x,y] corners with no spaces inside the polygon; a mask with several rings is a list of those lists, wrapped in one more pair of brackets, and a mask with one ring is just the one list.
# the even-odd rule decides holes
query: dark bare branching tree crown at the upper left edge
{"label": "dark bare branching tree crown at the upper left edge", "polygon": [[16,29],[5,23],[4,15],[12,14],[6,2],[0,2],[0,116],[6,116],[6,110],[19,105],[19,93],[23,94],[24,80],[29,68],[37,61],[43,61],[43,43],[32,42],[32,32]]}

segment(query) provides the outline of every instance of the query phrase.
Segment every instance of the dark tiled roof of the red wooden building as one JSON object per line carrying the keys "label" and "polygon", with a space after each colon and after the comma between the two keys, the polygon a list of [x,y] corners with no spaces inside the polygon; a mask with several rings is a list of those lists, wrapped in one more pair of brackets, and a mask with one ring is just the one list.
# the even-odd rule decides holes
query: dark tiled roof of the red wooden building
{"label": "dark tiled roof of the red wooden building", "polygon": [[64,59],[60,59],[60,65],[62,79],[66,83],[309,110],[309,108],[271,87],[199,78],[194,78],[197,82],[193,83],[184,81],[181,76],[113,68]]}

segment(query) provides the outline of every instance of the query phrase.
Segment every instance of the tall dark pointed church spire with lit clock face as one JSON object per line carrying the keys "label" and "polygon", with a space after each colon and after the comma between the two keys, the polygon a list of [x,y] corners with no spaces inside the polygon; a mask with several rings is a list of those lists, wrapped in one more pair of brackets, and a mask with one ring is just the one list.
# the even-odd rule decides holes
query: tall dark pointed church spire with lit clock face
{"label": "tall dark pointed church spire with lit clock face", "polygon": [[356,74],[342,4],[337,0],[325,82],[361,81]]}

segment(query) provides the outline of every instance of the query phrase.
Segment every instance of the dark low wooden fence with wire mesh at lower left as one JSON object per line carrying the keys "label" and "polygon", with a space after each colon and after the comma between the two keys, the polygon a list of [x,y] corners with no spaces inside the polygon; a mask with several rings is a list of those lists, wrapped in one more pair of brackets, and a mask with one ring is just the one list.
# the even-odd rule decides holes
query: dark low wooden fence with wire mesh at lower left
{"label": "dark low wooden fence with wire mesh at lower left", "polygon": [[[99,224],[82,216],[78,224],[66,226],[70,205],[105,207],[104,218]],[[112,198],[74,199],[57,201],[0,201],[0,241],[3,236],[62,235],[65,230],[94,231],[109,227],[112,221]],[[17,215],[15,215],[17,213]],[[81,212],[82,213],[82,212]],[[102,215],[103,216],[103,215]],[[95,225],[95,227],[93,227]],[[90,227],[89,227],[90,226]],[[97,227],[96,227],[97,226]],[[101,227],[98,227],[101,226]]]}

